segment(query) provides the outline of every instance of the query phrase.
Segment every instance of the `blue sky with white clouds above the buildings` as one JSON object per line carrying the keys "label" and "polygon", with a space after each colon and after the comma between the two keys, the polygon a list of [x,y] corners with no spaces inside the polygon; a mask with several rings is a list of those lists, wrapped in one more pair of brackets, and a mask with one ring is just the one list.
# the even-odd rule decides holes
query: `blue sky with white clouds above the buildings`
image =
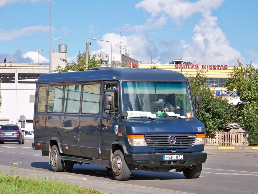
{"label": "blue sky with white clouds above the buildings", "polygon": [[240,60],[258,68],[257,7],[257,0],[51,0],[50,37],[50,0],[0,0],[0,63],[49,63],[51,41],[52,52],[67,45],[69,62],[88,42],[91,55],[110,53],[112,44],[112,53],[122,45],[122,54],[145,63]]}

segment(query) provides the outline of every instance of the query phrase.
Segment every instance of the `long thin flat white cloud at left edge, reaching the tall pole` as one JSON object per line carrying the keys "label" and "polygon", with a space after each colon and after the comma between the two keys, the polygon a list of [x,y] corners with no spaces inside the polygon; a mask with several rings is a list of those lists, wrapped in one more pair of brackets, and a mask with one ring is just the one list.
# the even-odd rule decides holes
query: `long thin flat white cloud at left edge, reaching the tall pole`
{"label": "long thin flat white cloud at left edge, reaching the tall pole", "polygon": [[[49,26],[31,26],[13,31],[0,31],[0,41],[11,41],[21,36],[30,36],[34,33],[49,32]],[[53,28],[52,28],[53,29]]]}

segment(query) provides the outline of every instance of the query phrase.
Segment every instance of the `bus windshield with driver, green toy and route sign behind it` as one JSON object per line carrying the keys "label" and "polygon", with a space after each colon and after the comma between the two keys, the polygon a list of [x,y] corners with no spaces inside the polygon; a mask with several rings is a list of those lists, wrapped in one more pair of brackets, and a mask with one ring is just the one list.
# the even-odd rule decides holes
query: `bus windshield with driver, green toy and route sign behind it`
{"label": "bus windshield with driver, green toy and route sign behind it", "polygon": [[194,117],[186,82],[123,82],[122,102],[128,118]]}

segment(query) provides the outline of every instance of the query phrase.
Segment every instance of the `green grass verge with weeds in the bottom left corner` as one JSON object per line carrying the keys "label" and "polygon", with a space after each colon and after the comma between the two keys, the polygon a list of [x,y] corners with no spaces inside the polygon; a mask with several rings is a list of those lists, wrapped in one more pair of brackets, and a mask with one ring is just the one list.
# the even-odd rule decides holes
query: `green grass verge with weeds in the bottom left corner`
{"label": "green grass verge with weeds in the bottom left corner", "polygon": [[33,178],[26,178],[17,175],[17,169],[20,162],[10,162],[10,174],[4,174],[0,171],[0,193],[5,194],[103,194],[103,192],[80,187],[79,185],[70,185],[66,182],[57,180],[38,179],[34,173]]}

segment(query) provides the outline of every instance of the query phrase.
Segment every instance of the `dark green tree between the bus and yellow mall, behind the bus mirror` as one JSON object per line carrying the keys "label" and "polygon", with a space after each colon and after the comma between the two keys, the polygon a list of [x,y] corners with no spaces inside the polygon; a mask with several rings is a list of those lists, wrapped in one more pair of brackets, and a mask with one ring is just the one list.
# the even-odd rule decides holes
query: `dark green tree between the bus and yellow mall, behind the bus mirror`
{"label": "dark green tree between the bus and yellow mall, behind the bus mirror", "polygon": [[[216,97],[215,91],[206,86],[206,76],[202,69],[198,69],[196,77],[189,76],[192,96],[202,96],[202,109],[200,109],[199,120],[204,124],[206,132],[214,132],[223,129],[234,119],[235,107],[228,104],[223,97]],[[197,112],[198,110],[196,110]]]}

